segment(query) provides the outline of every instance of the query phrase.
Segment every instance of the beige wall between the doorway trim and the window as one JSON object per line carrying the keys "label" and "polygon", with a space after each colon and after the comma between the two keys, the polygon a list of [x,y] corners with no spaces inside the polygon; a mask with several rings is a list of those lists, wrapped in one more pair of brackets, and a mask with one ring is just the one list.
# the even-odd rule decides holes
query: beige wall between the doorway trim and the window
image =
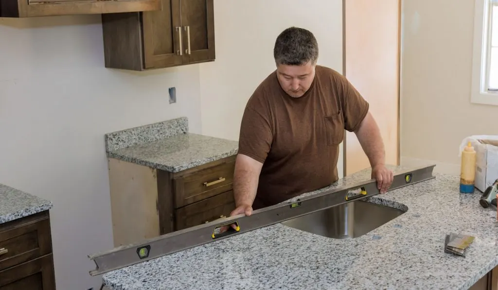
{"label": "beige wall between the doorway trim and the window", "polygon": [[462,140],[498,134],[498,106],[470,103],[474,1],[402,5],[401,162],[434,161],[458,175]]}

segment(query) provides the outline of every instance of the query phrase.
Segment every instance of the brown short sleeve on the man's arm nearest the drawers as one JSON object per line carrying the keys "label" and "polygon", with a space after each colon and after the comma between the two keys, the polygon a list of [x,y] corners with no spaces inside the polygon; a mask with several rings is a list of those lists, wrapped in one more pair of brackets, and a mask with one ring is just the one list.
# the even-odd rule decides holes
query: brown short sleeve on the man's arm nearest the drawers
{"label": "brown short sleeve on the man's arm nearest the drawers", "polygon": [[268,118],[255,109],[246,107],[242,116],[238,153],[264,163],[272,141]]}

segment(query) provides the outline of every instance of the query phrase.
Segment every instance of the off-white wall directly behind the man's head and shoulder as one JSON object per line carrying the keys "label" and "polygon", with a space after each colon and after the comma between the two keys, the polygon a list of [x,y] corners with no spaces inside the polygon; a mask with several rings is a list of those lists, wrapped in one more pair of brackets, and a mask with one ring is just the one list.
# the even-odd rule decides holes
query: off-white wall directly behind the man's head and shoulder
{"label": "off-white wall directly behind the man's head and shoulder", "polygon": [[203,134],[239,139],[246,102],[275,70],[273,45],[289,26],[312,31],[320,49],[318,64],[342,73],[342,0],[216,0],[214,5],[216,61],[200,65]]}

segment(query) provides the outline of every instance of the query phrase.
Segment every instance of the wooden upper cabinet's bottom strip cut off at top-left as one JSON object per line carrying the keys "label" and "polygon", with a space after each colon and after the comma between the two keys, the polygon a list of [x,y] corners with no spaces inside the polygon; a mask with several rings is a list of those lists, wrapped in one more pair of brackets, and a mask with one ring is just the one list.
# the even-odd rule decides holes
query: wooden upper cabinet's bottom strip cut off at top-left
{"label": "wooden upper cabinet's bottom strip cut off at top-left", "polygon": [[153,11],[161,0],[0,0],[0,17]]}

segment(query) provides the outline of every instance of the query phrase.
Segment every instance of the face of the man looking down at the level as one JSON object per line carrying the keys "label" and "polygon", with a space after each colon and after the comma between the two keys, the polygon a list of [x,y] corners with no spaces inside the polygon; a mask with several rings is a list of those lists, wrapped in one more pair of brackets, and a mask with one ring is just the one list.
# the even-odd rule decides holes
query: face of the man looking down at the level
{"label": "face of the man looking down at the level", "polygon": [[280,87],[291,97],[302,97],[315,77],[315,65],[277,65],[277,78]]}

